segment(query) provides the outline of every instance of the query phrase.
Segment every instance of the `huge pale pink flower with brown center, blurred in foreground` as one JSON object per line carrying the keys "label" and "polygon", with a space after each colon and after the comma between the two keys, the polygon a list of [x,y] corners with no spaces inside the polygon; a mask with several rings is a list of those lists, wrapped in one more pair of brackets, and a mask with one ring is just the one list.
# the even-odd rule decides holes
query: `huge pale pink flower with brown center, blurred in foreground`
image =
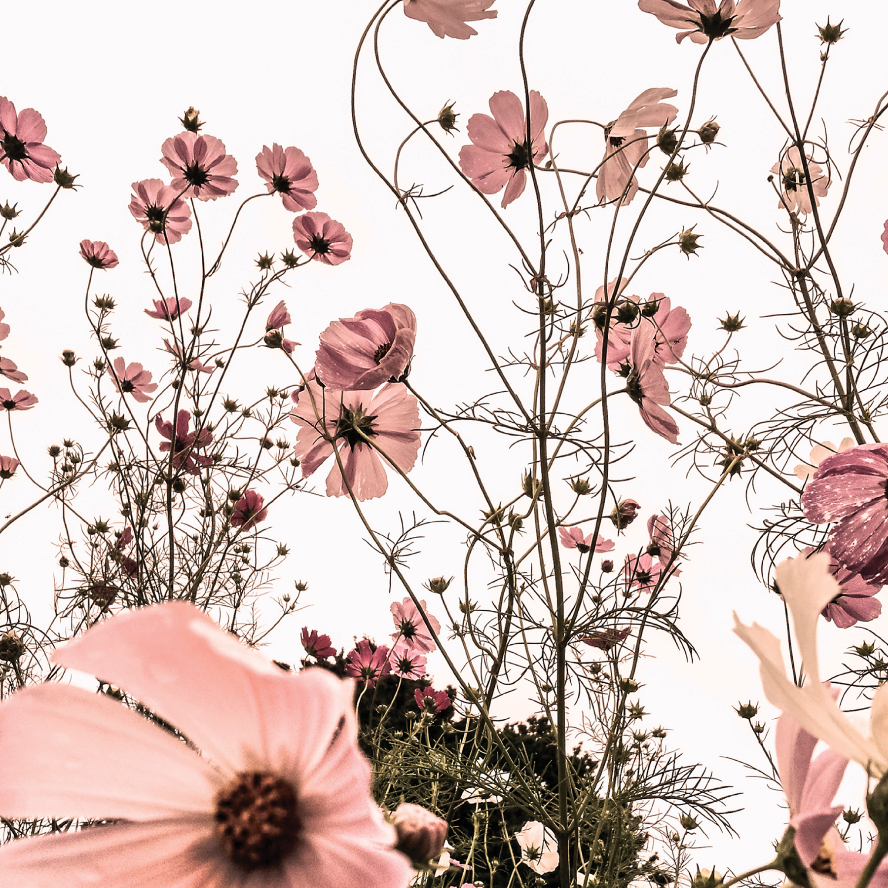
{"label": "huge pale pink flower with brown center, blurred in foreground", "polygon": [[110,617],[52,659],[123,687],[194,747],[106,694],[59,683],[13,694],[0,705],[0,813],[119,822],[4,844],[4,879],[407,884],[370,795],[353,682],[283,672],[180,601]]}

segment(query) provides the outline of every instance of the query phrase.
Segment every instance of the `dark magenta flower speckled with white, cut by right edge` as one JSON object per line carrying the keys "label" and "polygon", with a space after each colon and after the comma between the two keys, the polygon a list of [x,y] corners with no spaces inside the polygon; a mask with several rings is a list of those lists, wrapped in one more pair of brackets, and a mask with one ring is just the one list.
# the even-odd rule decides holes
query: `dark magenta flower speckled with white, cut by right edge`
{"label": "dark magenta flower speckled with white, cut by right edge", "polygon": [[837,522],[829,531],[833,559],[878,585],[888,583],[886,483],[888,444],[861,444],[824,459],[802,494],[806,519]]}

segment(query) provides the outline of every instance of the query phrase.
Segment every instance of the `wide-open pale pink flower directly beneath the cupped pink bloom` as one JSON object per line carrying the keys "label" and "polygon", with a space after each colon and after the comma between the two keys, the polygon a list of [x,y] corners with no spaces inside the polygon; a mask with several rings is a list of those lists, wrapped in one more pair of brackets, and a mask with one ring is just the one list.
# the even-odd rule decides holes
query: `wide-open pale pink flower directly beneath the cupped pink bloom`
{"label": "wide-open pale pink flower directly beneath the cupped pink bloom", "polygon": [[[320,414],[321,418],[318,418]],[[405,386],[387,383],[377,392],[329,392],[314,379],[299,392],[290,418],[300,426],[295,456],[308,478],[337,448],[345,469],[345,480],[359,500],[383,496],[388,478],[380,455],[365,437],[385,453],[387,461],[401,472],[416,462],[420,436],[419,406]],[[323,430],[332,443],[323,437]],[[347,496],[339,466],[327,477],[327,496]]]}

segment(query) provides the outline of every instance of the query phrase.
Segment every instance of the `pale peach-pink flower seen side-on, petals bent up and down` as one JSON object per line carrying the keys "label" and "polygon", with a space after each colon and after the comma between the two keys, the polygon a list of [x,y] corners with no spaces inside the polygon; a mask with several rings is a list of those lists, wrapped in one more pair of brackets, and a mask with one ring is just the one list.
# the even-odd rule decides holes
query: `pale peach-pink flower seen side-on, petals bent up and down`
{"label": "pale peach-pink flower seen side-on, petals bent up and down", "polygon": [[605,158],[599,167],[595,193],[599,203],[620,201],[629,203],[638,192],[636,167],[647,163],[646,127],[658,129],[675,120],[678,108],[665,104],[678,92],[667,88],[645,90],[632,99],[630,106],[605,127]]}

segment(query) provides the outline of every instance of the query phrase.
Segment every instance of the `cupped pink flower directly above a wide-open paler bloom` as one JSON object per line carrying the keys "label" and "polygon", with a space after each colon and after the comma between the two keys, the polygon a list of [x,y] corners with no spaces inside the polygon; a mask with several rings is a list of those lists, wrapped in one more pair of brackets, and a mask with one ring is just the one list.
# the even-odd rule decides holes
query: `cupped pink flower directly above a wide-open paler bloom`
{"label": "cupped pink flower directly above a wide-open paler bloom", "polygon": [[407,305],[365,308],[321,333],[314,369],[333,392],[375,389],[404,376],[415,341],[416,315]]}

